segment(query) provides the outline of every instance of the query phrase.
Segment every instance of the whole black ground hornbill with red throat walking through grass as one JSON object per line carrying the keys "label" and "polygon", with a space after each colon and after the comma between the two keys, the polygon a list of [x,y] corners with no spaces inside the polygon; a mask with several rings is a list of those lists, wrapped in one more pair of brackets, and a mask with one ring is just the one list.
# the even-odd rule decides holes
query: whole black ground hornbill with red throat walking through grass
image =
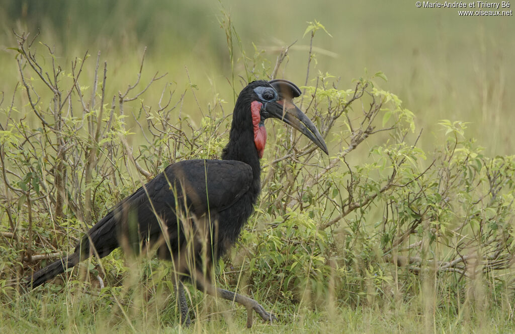
{"label": "whole black ground hornbill with red throat walking through grass", "polygon": [[210,269],[236,242],[261,191],[265,119],[284,121],[328,153],[315,125],[292,102],[300,94],[295,84],[283,79],[250,83],[234,106],[222,160],[169,165],[100,219],[71,255],[33,273],[26,284],[35,288],[80,261],[93,255],[105,257],[117,247],[125,251],[157,249],[160,258],[173,261],[182,324],[190,324],[182,285],[186,279],[204,292],[245,306],[248,327],[252,310],[265,321],[276,320],[255,300],[214,287]]}

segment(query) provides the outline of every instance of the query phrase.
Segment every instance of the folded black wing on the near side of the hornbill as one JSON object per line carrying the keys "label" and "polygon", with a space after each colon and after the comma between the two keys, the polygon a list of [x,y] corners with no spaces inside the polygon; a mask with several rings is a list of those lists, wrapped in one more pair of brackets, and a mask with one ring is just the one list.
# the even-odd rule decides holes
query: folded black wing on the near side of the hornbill
{"label": "folded black wing on the near side of the hornbill", "polygon": [[[231,160],[185,160],[171,164],[122,200],[88,232],[95,242],[100,238],[117,237],[120,231],[140,237],[162,231],[157,217],[168,227],[177,224],[178,210],[197,216],[210,211],[220,212],[245,194],[252,183],[252,168]],[[113,219],[114,218],[114,219]],[[102,222],[104,221],[104,222]],[[134,224],[137,221],[137,225]],[[126,224],[126,226],[124,226]],[[117,226],[117,228],[115,227]],[[100,241],[100,240],[99,240]],[[131,244],[137,243],[131,240]],[[97,246],[98,247],[98,246]]]}

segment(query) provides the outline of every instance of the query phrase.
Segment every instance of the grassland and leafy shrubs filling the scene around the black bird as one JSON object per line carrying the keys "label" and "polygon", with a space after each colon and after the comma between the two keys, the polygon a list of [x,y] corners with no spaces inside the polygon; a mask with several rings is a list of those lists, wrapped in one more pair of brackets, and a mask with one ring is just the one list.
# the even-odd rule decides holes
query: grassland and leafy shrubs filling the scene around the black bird
{"label": "grassland and leafy shrubs filling the scene around the black bird", "polygon": [[[315,20],[319,4],[296,8],[299,18],[310,14],[297,20],[288,3],[272,13],[277,2],[221,11],[166,3],[4,4],[1,332],[244,330],[244,309],[190,285],[195,319],[178,326],[173,268],[152,254],[115,251],[31,292],[19,282],[73,250],[81,232],[169,163],[219,157],[234,97],[273,76],[303,86],[298,105],[330,156],[266,123],[256,213],[216,271],[221,287],[279,315],[250,331],[513,331],[515,101],[506,59],[515,45],[504,43],[513,20],[474,18],[479,28],[466,30],[451,10],[349,4],[334,8],[349,18],[344,29],[327,13]],[[99,14],[81,14],[90,11]],[[192,25],[192,17],[209,20]],[[416,25],[433,19],[442,30]],[[353,23],[358,33],[347,30]],[[380,23],[399,34],[385,39]],[[435,42],[448,25],[455,34]],[[367,29],[381,36],[360,38]]]}

